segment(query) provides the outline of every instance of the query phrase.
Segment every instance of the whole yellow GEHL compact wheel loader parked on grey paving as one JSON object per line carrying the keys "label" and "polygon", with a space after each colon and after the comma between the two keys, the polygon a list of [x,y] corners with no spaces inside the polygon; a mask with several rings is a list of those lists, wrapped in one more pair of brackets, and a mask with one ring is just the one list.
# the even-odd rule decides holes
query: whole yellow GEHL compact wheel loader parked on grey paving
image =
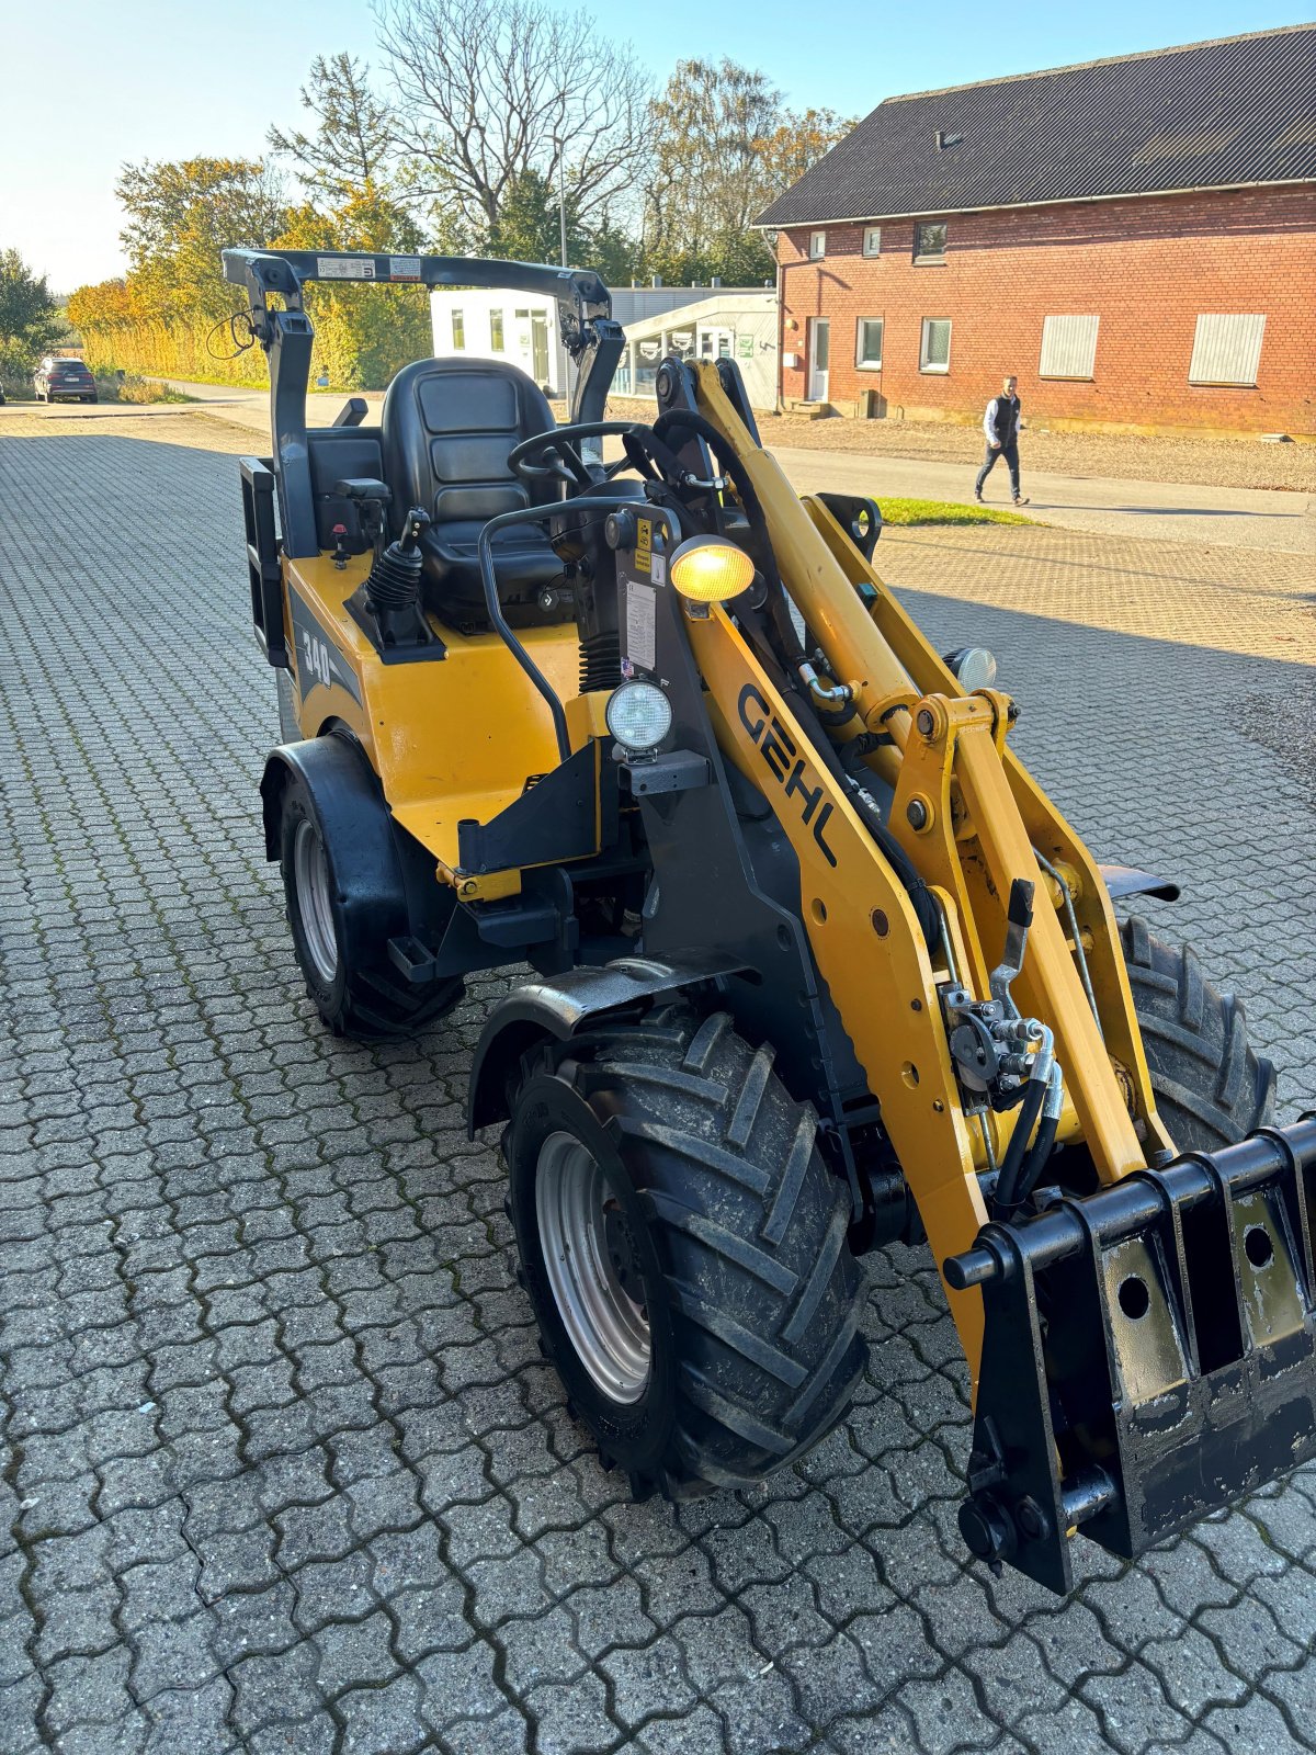
{"label": "whole yellow GEHL compact wheel loader parked on grey paving", "polygon": [[[595,274],[226,251],[272,384],[242,462],[283,742],[261,783],[325,1023],[490,1014],[523,1278],[639,1495],[756,1481],[844,1420],[858,1257],[926,1237],[974,1390],[960,1527],[1055,1590],[1316,1450],[1316,1118],[1270,1125],[1242,1009],[1112,899],[1011,749],[981,648],[798,498],[728,360],[604,418]],[[307,430],[314,279],[558,302],[554,425],[512,365],[418,360]],[[602,441],[619,456],[604,462]]]}

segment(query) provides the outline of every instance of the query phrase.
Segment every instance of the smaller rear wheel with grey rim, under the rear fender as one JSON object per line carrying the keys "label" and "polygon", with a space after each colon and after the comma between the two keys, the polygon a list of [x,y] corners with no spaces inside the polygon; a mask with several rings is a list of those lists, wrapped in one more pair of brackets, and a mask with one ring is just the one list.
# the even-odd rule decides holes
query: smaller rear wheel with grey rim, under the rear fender
{"label": "smaller rear wheel with grey rim, under the rear fender", "polygon": [[325,834],[305,781],[293,776],[283,792],[279,870],[288,902],[293,949],[316,1011],[335,1035],[361,1042],[416,1035],[437,1023],[465,993],[460,976],[411,985],[379,937],[347,955],[342,899],[333,874],[333,841]]}

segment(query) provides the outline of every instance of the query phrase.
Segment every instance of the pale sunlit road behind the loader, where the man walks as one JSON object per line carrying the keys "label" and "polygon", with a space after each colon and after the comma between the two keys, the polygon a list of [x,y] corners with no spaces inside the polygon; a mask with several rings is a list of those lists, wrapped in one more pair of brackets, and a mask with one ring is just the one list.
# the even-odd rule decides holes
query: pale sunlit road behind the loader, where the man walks
{"label": "pale sunlit road behind the loader, where the man walks", "polygon": [[[177,388],[225,419],[261,433],[268,432],[265,391],[230,390],[219,384]],[[328,425],[342,407],[342,400],[339,395],[312,395],[309,398],[312,425]],[[383,397],[367,397],[367,402],[374,418]],[[70,407],[67,412],[72,418],[86,418],[93,411]],[[865,493],[877,502],[888,495],[949,500],[953,505],[969,505],[974,497],[974,470],[958,463],[776,448],[770,432],[765,433],[765,441],[791,484],[802,493],[832,490]],[[1141,537],[1155,542],[1195,542],[1205,548],[1270,549],[1307,555],[1316,562],[1312,495],[1265,488],[1211,488],[1200,483],[1032,474],[1026,462],[1025,446],[1023,491],[1032,500],[1028,516],[1062,530],[1090,530],[1098,535]],[[986,500],[1000,507],[1011,504],[1004,463],[997,463],[988,479]]]}

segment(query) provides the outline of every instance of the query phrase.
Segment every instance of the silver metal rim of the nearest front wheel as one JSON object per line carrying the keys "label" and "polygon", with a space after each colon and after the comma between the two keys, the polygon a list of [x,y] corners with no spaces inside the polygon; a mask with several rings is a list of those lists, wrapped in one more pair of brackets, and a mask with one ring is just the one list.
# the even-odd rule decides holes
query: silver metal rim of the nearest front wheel
{"label": "silver metal rim of the nearest front wheel", "polygon": [[535,1214],[553,1299],[577,1358],[614,1402],[649,1383],[649,1322],[639,1265],[607,1178],[574,1134],[539,1150]]}

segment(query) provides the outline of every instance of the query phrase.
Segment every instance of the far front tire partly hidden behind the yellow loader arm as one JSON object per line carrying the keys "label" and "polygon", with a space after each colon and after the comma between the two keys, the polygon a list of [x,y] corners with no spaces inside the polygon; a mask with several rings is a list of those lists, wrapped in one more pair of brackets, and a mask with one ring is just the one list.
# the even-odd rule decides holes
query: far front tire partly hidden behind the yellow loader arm
{"label": "far front tire partly hidden behind the yellow loader arm", "polygon": [[1197,951],[1137,914],[1119,927],[1156,1107],[1179,1151],[1219,1151],[1274,1111],[1276,1069],[1248,1044],[1242,1002],[1202,974]]}

